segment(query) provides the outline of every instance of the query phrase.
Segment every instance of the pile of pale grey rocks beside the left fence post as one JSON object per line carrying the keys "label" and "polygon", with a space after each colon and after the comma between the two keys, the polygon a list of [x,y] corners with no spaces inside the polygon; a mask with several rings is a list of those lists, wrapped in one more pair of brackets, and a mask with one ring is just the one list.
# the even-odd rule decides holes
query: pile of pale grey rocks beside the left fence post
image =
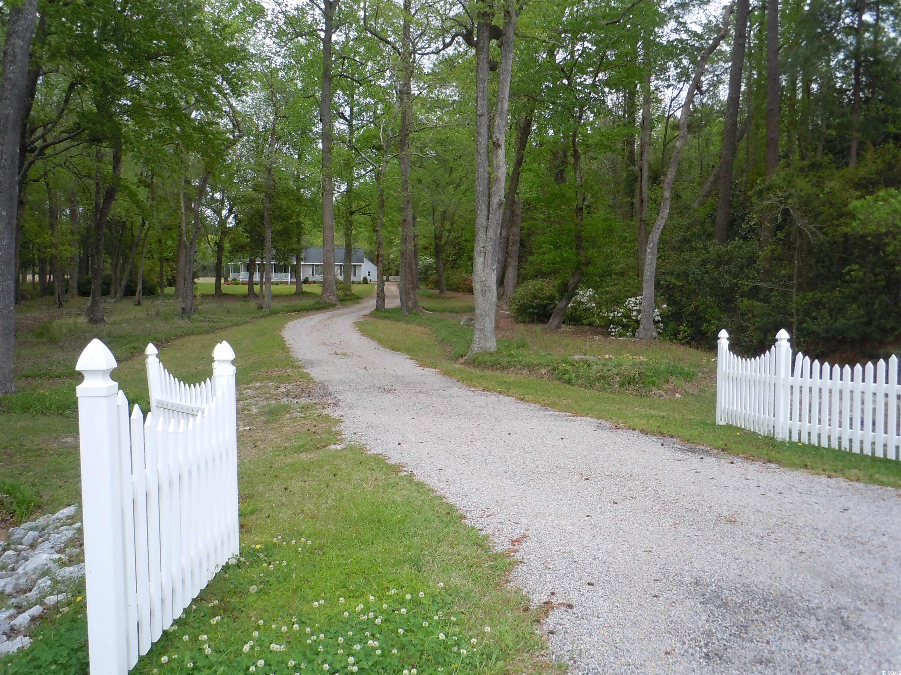
{"label": "pile of pale grey rocks beside the left fence post", "polygon": [[0,607],[7,606],[0,609],[0,655],[31,644],[28,627],[64,604],[85,576],[77,515],[77,506],[68,506],[14,527],[0,542]]}

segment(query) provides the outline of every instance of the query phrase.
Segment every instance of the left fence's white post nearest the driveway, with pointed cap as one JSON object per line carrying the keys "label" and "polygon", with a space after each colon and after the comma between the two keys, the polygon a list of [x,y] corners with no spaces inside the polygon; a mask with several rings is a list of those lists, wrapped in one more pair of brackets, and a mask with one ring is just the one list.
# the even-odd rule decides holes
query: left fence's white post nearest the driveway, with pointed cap
{"label": "left fence's white post nearest the driveway, with pointed cap", "polygon": [[228,487],[229,503],[227,505],[228,530],[226,534],[226,553],[241,553],[240,532],[238,526],[238,410],[237,388],[235,383],[234,350],[223,340],[213,350],[213,382],[216,398],[224,406],[225,436],[228,453],[225,455],[225,485]]}

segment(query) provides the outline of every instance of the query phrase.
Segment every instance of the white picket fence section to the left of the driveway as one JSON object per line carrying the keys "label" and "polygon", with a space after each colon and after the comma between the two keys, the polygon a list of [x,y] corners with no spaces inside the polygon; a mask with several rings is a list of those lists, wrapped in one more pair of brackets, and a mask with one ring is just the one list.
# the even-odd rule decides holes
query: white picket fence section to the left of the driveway
{"label": "white picket fence section to the left of the driveway", "polygon": [[76,369],[91,675],[124,675],[239,553],[234,352],[179,382],[148,345],[150,412],[131,416],[92,340]]}

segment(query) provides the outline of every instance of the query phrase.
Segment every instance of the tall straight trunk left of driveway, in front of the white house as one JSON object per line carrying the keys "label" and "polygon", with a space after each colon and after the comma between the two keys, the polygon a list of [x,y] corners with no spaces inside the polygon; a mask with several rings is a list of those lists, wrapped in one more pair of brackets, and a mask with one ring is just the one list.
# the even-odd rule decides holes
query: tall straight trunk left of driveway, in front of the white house
{"label": "tall straight trunk left of driveway, in front of the white house", "polygon": [[323,287],[320,302],[338,304],[335,284],[335,203],[332,182],[332,31],[339,0],[323,0],[323,90],[319,119],[323,124]]}

